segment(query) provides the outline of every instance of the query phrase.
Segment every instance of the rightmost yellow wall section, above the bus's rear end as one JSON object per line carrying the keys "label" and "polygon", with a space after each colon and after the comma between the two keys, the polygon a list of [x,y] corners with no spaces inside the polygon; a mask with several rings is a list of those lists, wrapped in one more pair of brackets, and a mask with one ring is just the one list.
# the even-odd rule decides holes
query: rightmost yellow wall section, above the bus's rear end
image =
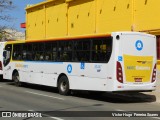
{"label": "rightmost yellow wall section, above the bus's rear end", "polygon": [[134,2],[135,31],[159,34],[160,15],[157,13],[160,8],[160,0],[134,0]]}

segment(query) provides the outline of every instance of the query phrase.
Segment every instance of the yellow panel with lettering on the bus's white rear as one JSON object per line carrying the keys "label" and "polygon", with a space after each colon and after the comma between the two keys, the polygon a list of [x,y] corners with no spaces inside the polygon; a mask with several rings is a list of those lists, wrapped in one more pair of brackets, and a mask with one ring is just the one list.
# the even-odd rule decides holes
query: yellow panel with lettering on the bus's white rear
{"label": "yellow panel with lettering on the bus's white rear", "polygon": [[153,67],[152,63],[152,56],[124,55],[126,82],[149,82]]}

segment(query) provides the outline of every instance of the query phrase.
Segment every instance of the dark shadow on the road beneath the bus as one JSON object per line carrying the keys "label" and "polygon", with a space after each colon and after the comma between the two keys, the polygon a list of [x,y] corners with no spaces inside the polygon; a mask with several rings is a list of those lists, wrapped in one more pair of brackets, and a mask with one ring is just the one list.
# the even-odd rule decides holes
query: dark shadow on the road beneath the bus
{"label": "dark shadow on the road beneath the bus", "polygon": [[[2,81],[1,81],[2,82]],[[14,83],[7,82],[4,80],[8,85],[14,86]],[[22,87],[28,89],[35,89],[39,91],[46,91],[58,94],[58,89],[53,87],[47,87],[42,85],[33,85],[33,84],[24,84]],[[89,92],[89,91],[71,91],[71,95],[77,98],[85,98],[103,102],[110,102],[110,103],[150,103],[156,101],[155,95],[150,95],[146,93],[107,93],[107,92]]]}

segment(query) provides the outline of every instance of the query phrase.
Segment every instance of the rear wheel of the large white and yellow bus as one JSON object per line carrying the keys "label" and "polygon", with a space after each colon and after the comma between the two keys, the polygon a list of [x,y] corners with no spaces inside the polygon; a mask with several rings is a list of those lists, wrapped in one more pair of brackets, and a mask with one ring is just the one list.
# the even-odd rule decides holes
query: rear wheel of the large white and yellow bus
{"label": "rear wheel of the large white and yellow bus", "polygon": [[66,76],[62,76],[58,82],[58,90],[61,95],[69,95],[69,81]]}

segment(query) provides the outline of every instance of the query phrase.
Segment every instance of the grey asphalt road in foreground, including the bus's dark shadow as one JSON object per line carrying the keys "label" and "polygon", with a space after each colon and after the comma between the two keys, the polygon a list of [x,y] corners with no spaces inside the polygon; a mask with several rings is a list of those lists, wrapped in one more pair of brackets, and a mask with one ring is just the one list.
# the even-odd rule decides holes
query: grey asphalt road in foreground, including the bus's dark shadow
{"label": "grey asphalt road in foreground, including the bus's dark shadow", "polygon": [[[133,111],[160,111],[160,105],[155,102],[155,97],[152,95],[112,93],[90,95],[87,92],[74,91],[70,96],[62,96],[55,88],[29,84],[16,87],[12,82],[3,80],[0,82],[0,111],[17,111],[19,115],[22,115],[22,112],[39,113],[38,118],[29,116],[22,118],[16,117],[18,114],[12,114],[15,118],[0,118],[0,120],[127,120],[128,117],[105,117],[105,114],[125,112],[126,115],[130,113],[133,115]],[[62,116],[63,113],[68,116]],[[158,120],[160,117],[130,119]]]}

